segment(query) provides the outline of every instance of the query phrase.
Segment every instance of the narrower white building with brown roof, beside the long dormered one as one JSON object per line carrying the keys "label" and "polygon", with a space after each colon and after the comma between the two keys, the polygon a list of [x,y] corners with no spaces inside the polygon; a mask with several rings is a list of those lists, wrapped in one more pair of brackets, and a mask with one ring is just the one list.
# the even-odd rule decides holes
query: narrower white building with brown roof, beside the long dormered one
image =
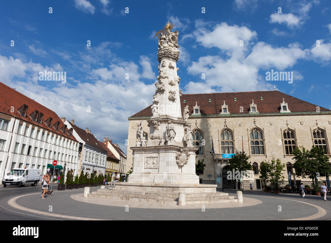
{"label": "narrower white building with brown roof, beside the long dormered one", "polygon": [[[65,118],[61,118],[65,120]],[[94,175],[105,175],[105,167],[107,162],[107,153],[108,151],[102,146],[102,142],[98,141],[96,137],[91,133],[88,128],[83,130],[76,125],[74,125],[74,120],[72,119],[71,122],[66,120],[64,124],[72,130],[72,135],[83,144],[83,148],[81,150],[79,156],[79,168],[78,173],[81,170],[86,172],[92,173]]]}

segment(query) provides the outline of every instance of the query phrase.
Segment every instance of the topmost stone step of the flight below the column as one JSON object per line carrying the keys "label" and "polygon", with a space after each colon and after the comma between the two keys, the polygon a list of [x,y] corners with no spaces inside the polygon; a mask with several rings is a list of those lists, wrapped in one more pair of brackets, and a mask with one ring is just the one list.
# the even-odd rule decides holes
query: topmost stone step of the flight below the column
{"label": "topmost stone step of the flight below the column", "polygon": [[[98,192],[109,193],[122,193],[122,194],[134,194],[134,195],[153,195],[153,196],[166,196],[166,197],[178,197],[178,192],[153,192],[153,191],[129,191],[129,190],[109,190],[98,189]],[[186,193],[186,197],[210,197],[210,196],[228,196],[228,193],[224,192],[199,192],[199,193]]]}

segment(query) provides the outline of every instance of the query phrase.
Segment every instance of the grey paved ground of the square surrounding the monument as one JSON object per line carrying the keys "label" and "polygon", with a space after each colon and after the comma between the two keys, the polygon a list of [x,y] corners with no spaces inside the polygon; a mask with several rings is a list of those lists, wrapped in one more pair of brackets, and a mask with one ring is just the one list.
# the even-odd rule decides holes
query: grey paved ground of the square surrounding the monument
{"label": "grey paved ground of the square surrounding the monument", "polygon": [[[97,187],[91,187],[91,191],[95,191],[96,189]],[[306,198],[303,199],[299,194],[272,194],[255,191],[253,193],[244,192],[244,201],[246,197],[258,199],[262,201],[262,203],[247,207],[206,207],[205,211],[203,211],[202,208],[155,209],[129,207],[127,212],[127,210],[125,210],[127,207],[125,206],[129,204],[128,201],[121,201],[122,206],[107,206],[72,199],[71,195],[83,193],[82,188],[65,191],[55,190],[52,193],[52,196],[48,196],[45,199],[41,199],[41,193],[39,192],[41,192],[40,187],[0,187],[0,219],[71,220],[89,218],[100,220],[290,220],[310,217],[316,214],[318,216],[323,215],[325,214],[325,211],[326,214],[317,218],[317,220],[331,219],[331,197],[328,197],[330,201],[325,202],[322,197],[314,195],[307,195]],[[236,194],[233,190],[225,190],[224,192],[228,192],[230,195],[234,196]],[[10,206],[8,201],[16,196],[22,197],[16,199],[15,205],[31,210],[38,210],[44,213],[37,214],[35,212],[29,212],[26,209],[21,210],[17,207]],[[52,212],[50,212],[50,208],[52,208]],[[55,217],[55,215],[60,215],[60,217]]]}

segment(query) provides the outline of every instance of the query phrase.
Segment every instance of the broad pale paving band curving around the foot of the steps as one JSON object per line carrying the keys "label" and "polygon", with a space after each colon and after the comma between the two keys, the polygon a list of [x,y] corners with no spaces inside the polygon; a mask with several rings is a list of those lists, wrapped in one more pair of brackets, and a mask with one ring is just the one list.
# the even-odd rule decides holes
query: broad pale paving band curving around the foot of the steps
{"label": "broad pale paving band curving around the foot of the steps", "polygon": [[244,198],[243,203],[239,202],[225,202],[225,203],[205,203],[205,204],[189,204],[185,206],[179,206],[175,204],[163,204],[163,203],[151,203],[151,202],[139,202],[139,201],[124,201],[118,199],[106,199],[96,197],[83,197],[82,193],[73,194],[71,198],[80,202],[93,203],[105,206],[123,207],[129,206],[133,208],[154,208],[154,209],[201,209],[202,206],[206,208],[237,208],[247,207],[262,203],[262,201],[254,198]]}

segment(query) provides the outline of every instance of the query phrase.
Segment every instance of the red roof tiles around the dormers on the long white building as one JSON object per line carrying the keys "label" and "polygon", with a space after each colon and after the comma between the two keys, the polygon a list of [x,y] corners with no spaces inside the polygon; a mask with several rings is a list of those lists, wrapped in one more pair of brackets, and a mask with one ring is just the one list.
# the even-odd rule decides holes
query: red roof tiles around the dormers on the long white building
{"label": "red roof tiles around the dormers on the long white building", "polygon": [[[27,114],[26,117],[21,116],[21,114],[18,112],[18,109],[23,105],[26,104],[28,106],[27,108]],[[11,112],[11,107],[14,107],[14,112]],[[43,119],[42,123],[38,123],[37,121],[33,121],[30,117],[30,114],[33,113],[35,110],[39,111],[40,113],[43,113]],[[51,109],[47,108],[46,106],[43,106],[42,104],[38,103],[37,101],[34,101],[25,95],[21,94],[20,92],[10,88],[9,86],[3,84],[0,82],[0,113],[4,113],[13,117],[17,117],[18,119],[30,123],[34,126],[40,127],[43,130],[51,131],[54,134],[61,135],[63,137],[69,138],[73,141],[78,142],[74,136],[69,136],[66,133],[63,133],[60,128],[62,128],[65,124],[62,122],[60,117]],[[48,127],[45,124],[45,121],[51,117],[52,120],[52,126]],[[57,122],[60,122],[59,131],[56,131],[53,127],[54,124]]]}

